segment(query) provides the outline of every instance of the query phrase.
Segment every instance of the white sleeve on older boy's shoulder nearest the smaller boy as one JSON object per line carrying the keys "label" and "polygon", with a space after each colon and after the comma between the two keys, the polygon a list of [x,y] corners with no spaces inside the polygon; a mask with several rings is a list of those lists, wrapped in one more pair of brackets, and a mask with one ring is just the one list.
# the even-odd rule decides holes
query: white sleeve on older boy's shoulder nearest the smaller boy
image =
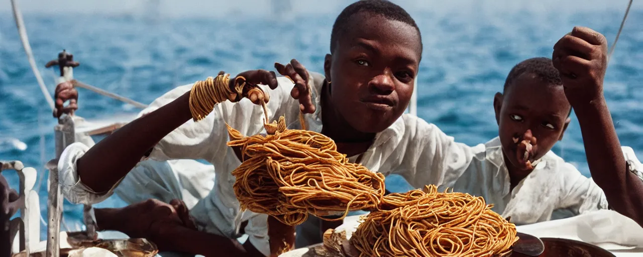
{"label": "white sleeve on older boy's shoulder nearest the smaller boy", "polygon": [[420,118],[405,116],[404,120],[406,129],[400,147],[404,149],[404,156],[396,173],[413,188],[457,180],[471,163],[475,155],[473,149],[455,142],[437,126]]}

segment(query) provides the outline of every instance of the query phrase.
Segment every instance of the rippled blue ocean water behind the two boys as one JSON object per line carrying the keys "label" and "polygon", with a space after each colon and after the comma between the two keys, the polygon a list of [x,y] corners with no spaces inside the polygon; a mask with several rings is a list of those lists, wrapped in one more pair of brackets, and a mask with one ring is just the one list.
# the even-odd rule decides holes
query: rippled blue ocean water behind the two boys
{"label": "rippled blue ocean water behind the two boys", "polygon": [[[473,10],[473,9],[472,9]],[[336,14],[288,20],[147,19],[132,15],[25,15],[33,53],[53,95],[53,71],[44,64],[62,49],[81,63],[75,78],[107,91],[149,103],[177,85],[224,70],[271,69],[274,62],[300,60],[322,71]],[[530,57],[550,57],[552,46],[573,26],[589,26],[610,40],[622,12],[412,12],[421,28],[424,53],[418,78],[418,115],[468,145],[497,136],[493,95],[502,90],[514,64]],[[149,18],[149,17],[148,17]],[[301,18],[301,19],[299,19]],[[643,151],[643,12],[630,13],[611,60],[605,94],[622,145],[639,157]],[[80,92],[79,116],[87,119],[133,113],[130,105]],[[546,104],[546,103],[543,103]],[[0,15],[0,159],[18,159],[36,167],[54,156],[51,110],[47,106],[21,46],[12,15]],[[554,151],[589,175],[578,123],[572,124]],[[3,173],[13,188],[17,175]],[[392,177],[392,191],[408,185]],[[46,182],[46,180],[45,180]],[[41,185],[42,216],[46,217],[46,183]],[[37,185],[38,185],[37,184]],[[100,206],[116,206],[109,199]],[[80,206],[66,202],[66,223],[80,223]],[[44,236],[44,227],[42,230]]]}

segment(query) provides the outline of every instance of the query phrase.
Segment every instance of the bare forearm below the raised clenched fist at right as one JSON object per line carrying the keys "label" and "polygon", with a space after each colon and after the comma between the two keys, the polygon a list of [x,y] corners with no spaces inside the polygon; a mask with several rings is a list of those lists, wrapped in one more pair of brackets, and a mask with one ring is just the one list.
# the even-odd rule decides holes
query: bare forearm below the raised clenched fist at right
{"label": "bare forearm below the raised clenched fist at right", "polygon": [[574,110],[593,181],[604,191],[610,208],[643,224],[643,182],[626,167],[604,98],[574,105]]}

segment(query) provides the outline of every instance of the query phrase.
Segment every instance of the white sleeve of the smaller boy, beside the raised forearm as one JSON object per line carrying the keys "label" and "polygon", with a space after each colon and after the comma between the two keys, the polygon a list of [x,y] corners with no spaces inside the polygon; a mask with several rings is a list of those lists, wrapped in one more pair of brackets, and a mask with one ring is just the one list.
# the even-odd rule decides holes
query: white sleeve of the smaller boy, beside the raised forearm
{"label": "white sleeve of the smaller boy, beside the raised forearm", "polygon": [[[629,171],[635,173],[639,179],[643,179],[643,174],[640,172],[642,165],[634,150],[624,146],[622,151]],[[570,163],[564,163],[560,172],[563,173],[565,193],[561,197],[559,208],[568,208],[575,214],[609,208],[605,193],[592,178],[585,177]]]}

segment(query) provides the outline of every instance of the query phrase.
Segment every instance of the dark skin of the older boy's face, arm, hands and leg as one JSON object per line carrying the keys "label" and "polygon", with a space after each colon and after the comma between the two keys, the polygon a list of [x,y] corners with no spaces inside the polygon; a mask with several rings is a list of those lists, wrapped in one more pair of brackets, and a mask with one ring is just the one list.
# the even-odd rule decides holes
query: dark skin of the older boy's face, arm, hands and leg
{"label": "dark skin of the older boy's face, arm, hands and leg", "polygon": [[[322,133],[334,139],[338,151],[347,155],[365,152],[376,133],[388,128],[403,114],[421,59],[420,36],[412,26],[370,13],[358,13],[351,22],[359,23],[344,34],[332,55],[325,58],[325,75],[332,83],[323,87],[321,98],[324,108]],[[306,87],[308,73],[305,67],[293,60],[285,66],[275,64],[275,68],[295,82],[291,96],[299,100],[300,109],[305,113],[314,112],[315,106]],[[238,76],[244,76],[251,84],[269,85],[273,89],[277,86],[275,73],[268,71],[246,71]],[[109,190],[158,141],[192,118],[188,101],[189,93],[186,93],[98,142],[78,159],[80,179],[94,191]],[[59,102],[57,100],[57,104]],[[162,209],[174,208],[159,202],[153,205]],[[132,209],[147,208],[144,207],[140,204]],[[100,211],[96,211],[99,216]],[[123,212],[118,217],[127,220],[125,223],[135,224],[145,218],[127,214],[130,211],[117,211]],[[196,231],[186,226],[187,222],[180,215],[174,217],[173,213],[156,217],[167,222],[150,225],[163,229],[141,228],[131,233],[165,242],[167,245],[159,245],[163,251],[205,256],[263,256],[248,242],[240,247],[235,239]],[[101,227],[100,221],[98,223]],[[181,235],[182,240],[167,239],[177,238],[176,235]]]}

